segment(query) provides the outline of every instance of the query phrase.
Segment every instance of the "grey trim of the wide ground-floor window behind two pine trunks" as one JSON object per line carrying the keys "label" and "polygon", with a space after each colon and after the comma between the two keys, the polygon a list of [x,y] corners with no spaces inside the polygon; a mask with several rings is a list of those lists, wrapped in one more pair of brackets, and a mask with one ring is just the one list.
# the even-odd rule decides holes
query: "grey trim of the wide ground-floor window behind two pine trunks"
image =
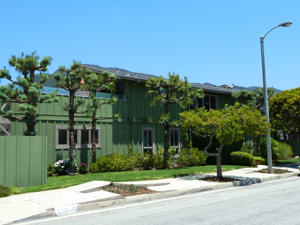
{"label": "grey trim of the wide ground-floor window behind two pine trunks", "polygon": [[[82,126],[74,126],[74,130],[77,130],[77,142],[75,149],[86,149],[91,148],[91,129],[92,127],[82,127]],[[67,149],[69,148],[69,132],[67,132],[67,144],[66,145],[58,145],[58,130],[67,130],[68,126],[55,126],[55,149]],[[81,144],[81,130],[89,130],[88,137],[89,137],[89,144]],[[96,130],[98,130],[98,144],[96,144],[96,148],[101,148],[101,127],[96,127]]]}

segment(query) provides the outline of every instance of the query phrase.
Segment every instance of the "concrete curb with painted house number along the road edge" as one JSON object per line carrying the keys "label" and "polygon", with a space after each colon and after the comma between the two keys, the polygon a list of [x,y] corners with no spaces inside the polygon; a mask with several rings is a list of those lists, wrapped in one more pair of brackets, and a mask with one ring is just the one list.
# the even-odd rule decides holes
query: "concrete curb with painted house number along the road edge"
{"label": "concrete curb with painted house number along the road edge", "polygon": [[166,192],[157,192],[157,193],[151,193],[151,194],[143,194],[143,195],[135,195],[135,196],[129,196],[129,197],[123,197],[123,196],[116,196],[111,197],[107,199],[98,199],[93,202],[81,202],[75,205],[67,205],[63,206],[62,208],[64,211],[62,213],[57,213],[61,211],[62,208],[49,208],[46,212],[36,214],[34,216],[26,217],[20,220],[15,220],[10,223],[6,224],[12,224],[12,223],[19,223],[19,222],[25,222],[28,220],[37,220],[47,217],[53,217],[58,215],[66,215],[66,214],[72,214],[72,213],[78,213],[78,212],[84,212],[84,211],[90,211],[90,210],[98,210],[101,208],[107,208],[112,206],[122,206],[124,204],[135,204],[135,203],[142,203],[142,202],[149,202],[149,201],[156,201],[160,199],[168,199],[175,196],[183,196],[187,194],[194,194],[204,191],[210,191],[210,190],[221,190],[231,187],[242,187],[242,186],[248,186],[252,184],[259,184],[262,182],[269,182],[269,181],[275,181],[279,179],[286,179],[293,176],[298,176],[299,172],[292,172],[292,173],[285,173],[280,174],[276,176],[271,177],[264,177],[264,178],[249,178],[249,179],[243,179],[240,181],[234,181],[234,182],[227,182],[227,183],[217,183],[210,186],[202,186],[202,187],[193,187],[193,188],[185,188],[180,190],[171,190]]}

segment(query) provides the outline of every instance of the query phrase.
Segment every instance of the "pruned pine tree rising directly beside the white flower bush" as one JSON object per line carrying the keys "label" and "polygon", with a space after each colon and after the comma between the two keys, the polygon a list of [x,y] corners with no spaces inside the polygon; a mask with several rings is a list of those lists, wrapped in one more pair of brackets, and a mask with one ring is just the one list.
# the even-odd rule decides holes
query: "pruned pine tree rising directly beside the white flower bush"
{"label": "pruned pine tree rising directly beside the white flower bush", "polygon": [[[75,155],[75,141],[74,141],[74,115],[75,113],[82,114],[86,113],[88,109],[78,108],[84,104],[83,98],[77,98],[75,102],[75,93],[76,91],[82,90],[82,79],[85,82],[90,82],[90,79],[94,76],[95,72],[81,66],[80,61],[73,60],[73,64],[70,68],[65,66],[59,67],[59,72],[54,74],[54,79],[57,83],[69,91],[69,104],[64,105],[64,110],[69,113],[69,157],[70,157],[70,166],[68,169],[68,175],[74,174],[75,164],[76,164],[76,155]],[[65,73],[66,76],[62,74]]]}

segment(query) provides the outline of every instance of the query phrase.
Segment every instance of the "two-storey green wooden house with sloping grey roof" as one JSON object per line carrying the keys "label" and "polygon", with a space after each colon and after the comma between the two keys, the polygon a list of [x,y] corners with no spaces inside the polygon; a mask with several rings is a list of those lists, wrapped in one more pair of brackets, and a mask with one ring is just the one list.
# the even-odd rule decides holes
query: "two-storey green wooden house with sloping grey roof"
{"label": "two-storey green wooden house with sloping grey roof", "polygon": [[[154,122],[149,122],[149,117],[158,118],[164,113],[164,106],[150,106],[153,96],[145,96],[145,82],[151,76],[143,73],[132,73],[128,70],[118,68],[104,68],[97,65],[82,64],[102,73],[108,70],[116,73],[118,83],[116,84],[117,104],[102,105],[98,110],[100,118],[112,118],[113,113],[120,113],[122,120],[104,119],[97,122],[97,157],[111,153],[126,153],[128,147],[133,147],[135,152],[153,151],[157,152],[158,147],[163,147],[164,127]],[[232,105],[234,100],[231,98],[232,89],[223,86],[205,86],[198,83],[191,83],[195,88],[202,88],[205,97],[196,100],[190,108],[206,107],[208,109],[221,109],[225,104]],[[62,105],[68,104],[68,91],[56,88],[53,79],[49,79],[42,93],[57,91],[60,98],[59,103],[39,104],[37,125],[35,126],[37,136],[48,136],[47,163],[50,164],[68,156],[68,113],[62,109]],[[101,99],[110,98],[112,94],[98,93]],[[87,94],[83,91],[76,92],[76,98],[85,98],[85,107],[89,103]],[[1,106],[4,110],[12,110],[15,114],[17,104]],[[170,112],[172,119],[179,119],[178,113],[182,109],[179,105],[171,105]],[[85,115],[78,114],[74,118],[76,132],[76,160],[80,163],[89,165],[91,161],[91,119]],[[24,122],[10,122],[0,119],[0,135],[22,136],[26,130]],[[171,128],[170,143],[180,151],[182,147],[182,137],[180,128]],[[176,155],[177,157],[178,155]]]}

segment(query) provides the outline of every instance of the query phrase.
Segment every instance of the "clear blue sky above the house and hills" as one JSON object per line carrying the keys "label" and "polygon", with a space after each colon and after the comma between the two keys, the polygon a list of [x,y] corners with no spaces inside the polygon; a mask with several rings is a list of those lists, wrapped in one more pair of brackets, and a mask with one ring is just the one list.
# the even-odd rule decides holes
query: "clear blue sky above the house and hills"
{"label": "clear blue sky above the house and hills", "polygon": [[[288,4],[289,5],[286,5]],[[73,59],[190,82],[299,87],[300,1],[4,1],[0,67],[11,55],[51,55],[48,69]],[[2,79],[2,84],[6,83]]]}

